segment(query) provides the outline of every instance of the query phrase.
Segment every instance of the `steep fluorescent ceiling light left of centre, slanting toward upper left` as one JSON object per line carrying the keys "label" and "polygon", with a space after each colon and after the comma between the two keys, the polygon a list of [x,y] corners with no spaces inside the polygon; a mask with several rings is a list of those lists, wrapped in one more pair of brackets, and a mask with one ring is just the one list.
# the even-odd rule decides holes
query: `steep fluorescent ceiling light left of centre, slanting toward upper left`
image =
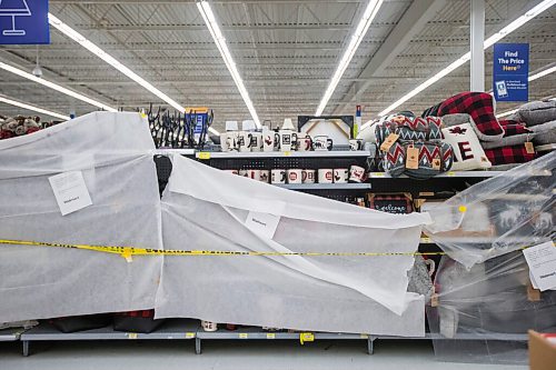
{"label": "steep fluorescent ceiling light left of centre, slanting toward upper left", "polygon": [[241,77],[239,76],[239,71],[236,67],[236,63],[234,62],[234,58],[231,57],[230,50],[228,49],[228,44],[226,43],[226,38],[224,37],[220,27],[218,26],[210,4],[208,3],[208,1],[201,0],[197,2],[197,8],[199,9],[202,19],[205,20],[205,23],[207,24],[207,28],[209,29],[210,34],[215,40],[218,51],[220,51],[220,54],[222,56],[224,62],[226,63],[226,67],[228,68],[228,71],[230,72],[231,78],[234,79],[234,82],[236,83],[239,93],[241,94],[241,98],[244,98],[244,101],[247,106],[247,109],[249,110],[249,113],[251,114],[252,120],[255,121],[255,124],[257,124],[257,128],[260,129],[261,124],[259,121],[259,117],[257,116],[257,111],[255,110],[255,106],[252,104],[251,98],[249,98],[249,93],[247,92],[247,89],[244,84],[244,80],[241,80]]}

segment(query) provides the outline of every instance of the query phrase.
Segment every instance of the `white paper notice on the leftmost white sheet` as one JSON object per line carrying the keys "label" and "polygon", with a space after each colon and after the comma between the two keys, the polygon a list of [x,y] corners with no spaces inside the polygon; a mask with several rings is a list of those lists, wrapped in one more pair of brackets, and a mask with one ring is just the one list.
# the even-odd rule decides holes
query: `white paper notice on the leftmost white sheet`
{"label": "white paper notice on the leftmost white sheet", "polygon": [[62,216],[92,204],[81,171],[70,171],[48,178]]}

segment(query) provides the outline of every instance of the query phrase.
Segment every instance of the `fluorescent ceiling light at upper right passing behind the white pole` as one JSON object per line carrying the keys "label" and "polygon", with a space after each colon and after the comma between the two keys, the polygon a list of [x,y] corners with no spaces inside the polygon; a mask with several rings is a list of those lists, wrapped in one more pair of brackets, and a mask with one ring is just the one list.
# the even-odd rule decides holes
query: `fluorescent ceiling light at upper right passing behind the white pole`
{"label": "fluorescent ceiling light at upper right passing behind the white pole", "polygon": [[[484,49],[492,47],[495,42],[498,42],[499,40],[502,40],[503,38],[508,36],[513,31],[517,30],[519,27],[527,23],[533,18],[540,14],[543,11],[547,10],[548,8],[554,6],[555,3],[556,3],[556,0],[544,0],[538,6],[534,7],[533,9],[527,11],[525,14],[517,18],[512,23],[509,23],[508,26],[506,26],[505,28],[503,28],[502,30],[499,30],[498,32],[496,32],[495,34],[493,34],[492,37],[486,39],[485,44],[484,44]],[[465,53],[458,60],[456,60],[455,62],[453,62],[451,64],[449,64],[448,67],[446,67],[445,69],[443,69],[441,71],[439,71],[438,73],[436,73],[435,76],[433,76],[431,78],[426,80],[425,82],[423,82],[420,86],[418,86],[417,88],[409,91],[408,93],[406,93],[405,96],[403,96],[401,98],[396,100],[394,103],[388,106],[385,110],[383,110],[380,113],[378,113],[378,116],[387,114],[388,112],[390,112],[394,109],[396,109],[397,107],[401,106],[404,102],[411,99],[413,97],[415,97],[416,94],[418,94],[419,92],[421,92],[423,90],[425,90],[426,88],[428,88],[429,86],[435,83],[436,81],[444,78],[446,74],[454,71],[456,68],[459,68],[460,66],[465,64],[470,59],[470,56],[471,56],[470,52]]]}

